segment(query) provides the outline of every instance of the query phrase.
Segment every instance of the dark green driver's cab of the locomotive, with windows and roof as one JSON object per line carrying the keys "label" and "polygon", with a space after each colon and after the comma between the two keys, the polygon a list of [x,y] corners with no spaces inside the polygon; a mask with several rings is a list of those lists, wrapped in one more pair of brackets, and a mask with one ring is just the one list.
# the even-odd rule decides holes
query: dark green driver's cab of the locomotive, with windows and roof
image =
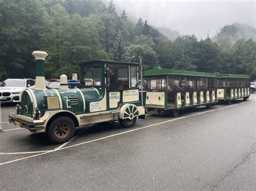
{"label": "dark green driver's cab of the locomotive, with windows and roof", "polygon": [[90,60],[80,66],[86,112],[118,110],[126,103],[143,106],[139,95],[140,63]]}

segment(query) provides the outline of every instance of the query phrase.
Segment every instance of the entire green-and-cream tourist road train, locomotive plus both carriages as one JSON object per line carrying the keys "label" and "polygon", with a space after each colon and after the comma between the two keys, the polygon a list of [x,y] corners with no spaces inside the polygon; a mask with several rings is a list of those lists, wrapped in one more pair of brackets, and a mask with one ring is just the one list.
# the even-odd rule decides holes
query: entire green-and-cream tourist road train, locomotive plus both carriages
{"label": "entire green-and-cream tourist road train, locomotive plus both carriages", "polygon": [[[31,133],[47,133],[52,143],[68,142],[76,127],[117,121],[130,128],[147,111],[166,111],[177,116],[181,109],[219,100],[231,102],[250,96],[250,77],[219,73],[188,72],[154,67],[143,75],[142,63],[90,60],[80,64],[81,88],[68,88],[66,75],[60,88],[45,86],[43,51],[36,60],[36,84],[25,89],[21,104],[9,122]],[[147,110],[146,110],[147,109]]]}

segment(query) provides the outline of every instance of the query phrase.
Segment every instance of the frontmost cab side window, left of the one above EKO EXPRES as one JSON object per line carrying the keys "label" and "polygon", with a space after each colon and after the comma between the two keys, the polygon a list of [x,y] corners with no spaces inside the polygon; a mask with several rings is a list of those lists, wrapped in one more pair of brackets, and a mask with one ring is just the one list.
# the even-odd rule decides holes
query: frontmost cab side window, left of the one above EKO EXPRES
{"label": "frontmost cab side window, left of the one above EKO EXPRES", "polygon": [[86,66],[83,68],[84,86],[102,85],[102,68],[100,65]]}

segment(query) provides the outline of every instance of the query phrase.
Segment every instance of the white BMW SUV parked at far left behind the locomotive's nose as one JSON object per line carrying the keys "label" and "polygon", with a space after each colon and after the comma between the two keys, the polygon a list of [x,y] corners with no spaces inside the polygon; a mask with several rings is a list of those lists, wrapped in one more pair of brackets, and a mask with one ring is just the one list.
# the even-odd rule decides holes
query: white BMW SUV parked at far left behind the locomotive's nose
{"label": "white BMW SUV parked at far left behind the locomotive's nose", "polygon": [[32,79],[7,79],[0,84],[0,102],[21,102],[21,94],[25,88],[35,88]]}

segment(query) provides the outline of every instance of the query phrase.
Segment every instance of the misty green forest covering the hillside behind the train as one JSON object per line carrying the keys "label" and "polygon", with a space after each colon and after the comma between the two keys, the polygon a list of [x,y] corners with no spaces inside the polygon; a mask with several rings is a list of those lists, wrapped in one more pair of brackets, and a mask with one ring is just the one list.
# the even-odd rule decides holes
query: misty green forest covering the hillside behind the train
{"label": "misty green forest covering the hillside behind the train", "polygon": [[226,25],[212,39],[193,34],[170,39],[143,18],[134,23],[125,10],[118,14],[112,0],[106,5],[100,0],[0,0],[0,81],[35,78],[35,50],[49,54],[46,79],[61,74],[70,79],[85,60],[139,58],[144,69],[161,66],[255,79],[255,39],[244,38],[239,27]]}

